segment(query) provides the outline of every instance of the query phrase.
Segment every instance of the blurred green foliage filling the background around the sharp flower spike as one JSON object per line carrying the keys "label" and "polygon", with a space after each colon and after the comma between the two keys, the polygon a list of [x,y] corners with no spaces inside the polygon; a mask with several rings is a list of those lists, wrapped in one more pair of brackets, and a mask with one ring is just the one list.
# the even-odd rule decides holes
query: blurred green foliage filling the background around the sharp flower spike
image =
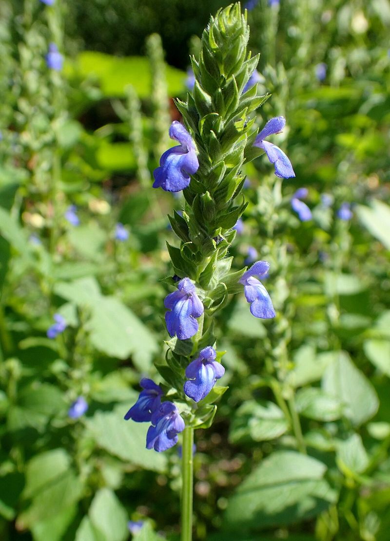
{"label": "blurred green foliage filling the background around the sharp flower spike", "polygon": [[[152,171],[180,120],[188,55],[226,4],[0,4],[5,541],[121,541],[129,519],[145,521],[135,539],[178,538],[177,449],[147,451],[146,428],[123,415],[163,360],[166,214],[183,204],[152,190]],[[272,94],[258,126],[287,118],[277,144],[296,178],[282,183],[263,157],[246,166],[231,255],[237,269],[249,247],[271,263],[277,318],[235,298],[218,321],[230,390],[196,433],[195,538],[388,541],[390,3],[248,6]],[[47,68],[50,42],[61,71]],[[305,222],[291,208],[300,187]],[[54,314],[67,328],[49,339]]]}

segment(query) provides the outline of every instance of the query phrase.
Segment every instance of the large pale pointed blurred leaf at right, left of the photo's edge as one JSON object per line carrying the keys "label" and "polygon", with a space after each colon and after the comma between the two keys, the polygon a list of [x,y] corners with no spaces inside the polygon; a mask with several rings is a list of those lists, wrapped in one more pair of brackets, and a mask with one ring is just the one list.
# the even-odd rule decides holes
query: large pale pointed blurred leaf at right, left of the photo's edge
{"label": "large pale pointed blurred leaf at right, left of the photo's edge", "polygon": [[322,378],[322,388],[345,405],[344,415],[355,426],[371,419],[378,410],[374,387],[346,352],[340,352],[329,364]]}

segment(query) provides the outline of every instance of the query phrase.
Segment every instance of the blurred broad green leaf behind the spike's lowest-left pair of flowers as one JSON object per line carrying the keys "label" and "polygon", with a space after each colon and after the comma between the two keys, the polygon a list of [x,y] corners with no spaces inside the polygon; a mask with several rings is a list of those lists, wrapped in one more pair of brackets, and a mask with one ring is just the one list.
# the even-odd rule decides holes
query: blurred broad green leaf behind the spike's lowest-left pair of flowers
{"label": "blurred broad green leaf behind the spike's lowest-left pair of flowers", "polygon": [[146,470],[165,471],[167,457],[146,449],[147,423],[125,421],[124,416],[133,404],[116,407],[112,412],[97,412],[87,420],[96,445],[126,462]]}

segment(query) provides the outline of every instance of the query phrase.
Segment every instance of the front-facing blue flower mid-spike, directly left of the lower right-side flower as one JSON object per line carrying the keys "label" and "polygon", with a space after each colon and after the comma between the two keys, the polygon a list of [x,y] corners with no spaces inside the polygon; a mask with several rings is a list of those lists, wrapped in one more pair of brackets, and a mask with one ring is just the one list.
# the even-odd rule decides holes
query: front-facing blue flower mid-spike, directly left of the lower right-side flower
{"label": "front-facing blue flower mid-spike, directly left of the lower right-side flower", "polygon": [[165,314],[165,322],[171,337],[176,334],[179,340],[186,340],[198,332],[195,318],[200,318],[204,308],[189,278],[180,280],[177,291],[165,297],[164,306],[170,310]]}

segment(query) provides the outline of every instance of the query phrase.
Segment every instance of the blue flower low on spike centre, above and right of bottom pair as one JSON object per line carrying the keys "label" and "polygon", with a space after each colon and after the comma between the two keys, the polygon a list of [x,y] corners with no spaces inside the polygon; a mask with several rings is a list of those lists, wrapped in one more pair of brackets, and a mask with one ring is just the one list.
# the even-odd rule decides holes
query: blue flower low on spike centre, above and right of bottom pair
{"label": "blue flower low on spike centre, above and right of bottom pair", "polygon": [[199,402],[209,394],[217,379],[222,378],[225,368],[216,361],[216,357],[215,349],[207,346],[201,349],[199,357],[187,366],[185,375],[190,378],[184,384],[187,397]]}

